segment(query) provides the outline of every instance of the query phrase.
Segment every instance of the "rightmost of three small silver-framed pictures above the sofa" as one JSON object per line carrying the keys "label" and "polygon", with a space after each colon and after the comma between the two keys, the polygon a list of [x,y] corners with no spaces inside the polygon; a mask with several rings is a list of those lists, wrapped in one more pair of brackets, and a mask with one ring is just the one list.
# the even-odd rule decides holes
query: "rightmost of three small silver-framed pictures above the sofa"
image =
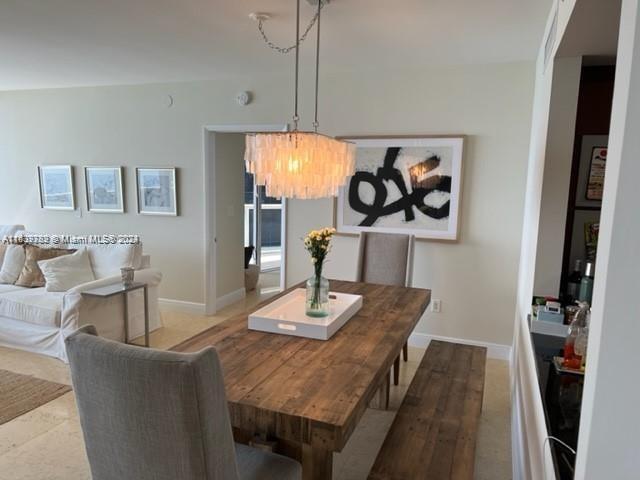
{"label": "rightmost of three small silver-framed pictures above the sofa", "polygon": [[136,168],[138,213],[178,215],[175,168]]}

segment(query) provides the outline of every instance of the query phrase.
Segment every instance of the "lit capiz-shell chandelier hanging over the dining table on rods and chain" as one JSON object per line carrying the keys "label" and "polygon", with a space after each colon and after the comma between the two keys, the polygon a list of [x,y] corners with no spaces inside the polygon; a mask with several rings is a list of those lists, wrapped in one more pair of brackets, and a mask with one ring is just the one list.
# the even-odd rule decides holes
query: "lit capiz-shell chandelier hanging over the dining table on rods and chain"
{"label": "lit capiz-shell chandelier hanging over the dining table on rods and chain", "polygon": [[[318,79],[320,65],[320,12],[326,0],[318,1],[313,21],[318,24],[316,39],[316,89],[314,131],[298,130],[300,0],[296,0],[295,101],[291,132],[250,133],[246,136],[247,171],[255,175],[257,185],[264,185],[269,197],[323,198],[338,195],[338,189],[355,170],[355,145],[318,133]],[[273,46],[259,24],[265,41],[282,53],[290,49]]]}

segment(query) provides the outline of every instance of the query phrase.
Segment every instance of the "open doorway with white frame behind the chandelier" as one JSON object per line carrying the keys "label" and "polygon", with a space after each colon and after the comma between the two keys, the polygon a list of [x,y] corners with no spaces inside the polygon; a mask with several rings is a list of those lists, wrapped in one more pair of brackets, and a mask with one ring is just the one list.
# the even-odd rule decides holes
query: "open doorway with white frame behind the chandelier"
{"label": "open doorway with white frame behind the chandelier", "polygon": [[287,129],[287,125],[204,128],[207,315],[241,300],[253,305],[285,288],[286,200],[267,197],[264,187],[256,186],[245,171],[244,135]]}

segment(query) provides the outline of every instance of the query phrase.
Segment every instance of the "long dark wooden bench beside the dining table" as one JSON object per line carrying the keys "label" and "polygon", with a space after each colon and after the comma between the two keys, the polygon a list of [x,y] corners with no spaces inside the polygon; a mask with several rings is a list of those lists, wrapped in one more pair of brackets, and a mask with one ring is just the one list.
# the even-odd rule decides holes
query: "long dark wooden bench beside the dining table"
{"label": "long dark wooden bench beside the dining table", "polygon": [[370,480],[472,479],[487,349],[433,340]]}

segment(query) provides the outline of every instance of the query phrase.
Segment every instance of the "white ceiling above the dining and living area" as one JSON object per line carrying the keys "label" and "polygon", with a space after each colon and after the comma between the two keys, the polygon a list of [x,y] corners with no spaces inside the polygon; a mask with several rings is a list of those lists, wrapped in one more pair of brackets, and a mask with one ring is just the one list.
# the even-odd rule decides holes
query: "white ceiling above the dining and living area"
{"label": "white ceiling above the dining and living area", "polygon": [[[394,69],[533,60],[551,0],[332,0],[322,68]],[[0,0],[0,90],[277,72],[293,0]],[[302,2],[304,25],[314,7]],[[303,27],[304,27],[303,25]],[[313,37],[313,35],[311,35]],[[305,64],[313,53],[304,44]]]}

